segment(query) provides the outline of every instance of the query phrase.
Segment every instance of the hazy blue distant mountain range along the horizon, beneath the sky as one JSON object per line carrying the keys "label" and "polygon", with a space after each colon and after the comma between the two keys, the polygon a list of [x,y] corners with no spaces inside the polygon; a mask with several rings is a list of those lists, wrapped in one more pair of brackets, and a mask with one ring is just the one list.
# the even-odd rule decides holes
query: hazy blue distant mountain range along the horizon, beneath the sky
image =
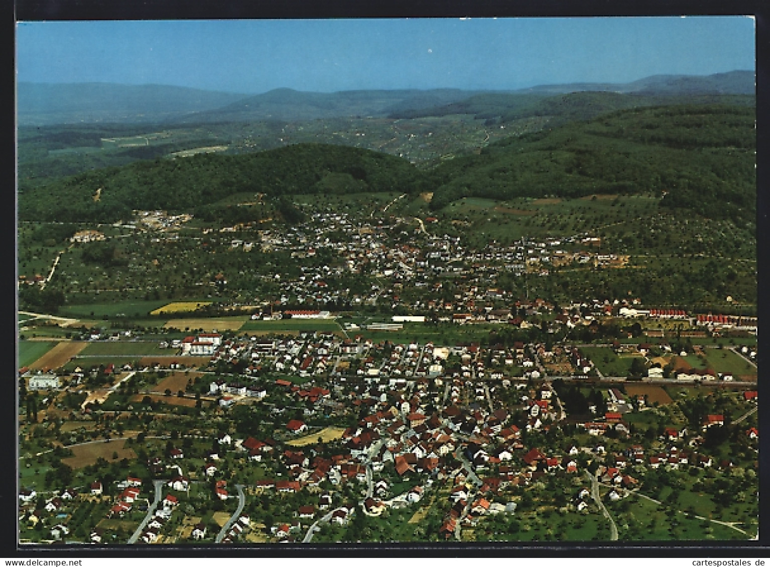
{"label": "hazy blue distant mountain range along the horizon, beneath the sky", "polygon": [[[613,92],[644,96],[754,95],[755,73],[653,75],[622,84],[538,85],[517,91],[361,90],[300,92],[278,88],[260,95],[214,92],[169,85],[112,83],[17,85],[18,125],[95,122],[256,122],[337,117],[391,117],[474,113],[507,115],[538,98],[571,92]],[[479,97],[494,110],[478,112]],[[490,98],[491,97],[491,98]],[[491,114],[490,114],[491,112]]]}

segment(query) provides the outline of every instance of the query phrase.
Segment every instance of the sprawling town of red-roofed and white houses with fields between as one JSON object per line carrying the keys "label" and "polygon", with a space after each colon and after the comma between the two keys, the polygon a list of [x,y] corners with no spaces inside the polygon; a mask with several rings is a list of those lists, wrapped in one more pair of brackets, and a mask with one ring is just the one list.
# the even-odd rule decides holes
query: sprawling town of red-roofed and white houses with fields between
{"label": "sprawling town of red-roofed and white houses with fields between", "polygon": [[20,315],[22,346],[49,349],[19,369],[22,542],[756,536],[755,316],[527,299],[634,257],[586,234],[474,248],[386,215],[399,200],[284,231],[142,212],[20,281],[67,282],[105,232],[159,265],[169,242],[282,258],[200,262],[208,297],[139,298],[141,317]]}

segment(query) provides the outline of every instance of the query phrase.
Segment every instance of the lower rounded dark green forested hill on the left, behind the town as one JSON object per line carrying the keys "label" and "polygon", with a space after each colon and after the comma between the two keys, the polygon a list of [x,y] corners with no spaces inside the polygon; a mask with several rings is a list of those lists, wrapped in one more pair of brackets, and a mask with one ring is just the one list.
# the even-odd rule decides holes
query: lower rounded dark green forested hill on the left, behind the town
{"label": "lower rounded dark green forested hill on the left, behind the town", "polygon": [[18,216],[114,222],[129,218],[133,209],[196,212],[240,192],[268,196],[413,192],[420,190],[420,178],[410,162],[393,155],[340,145],[297,144],[246,155],[134,162],[73,175],[21,192]]}

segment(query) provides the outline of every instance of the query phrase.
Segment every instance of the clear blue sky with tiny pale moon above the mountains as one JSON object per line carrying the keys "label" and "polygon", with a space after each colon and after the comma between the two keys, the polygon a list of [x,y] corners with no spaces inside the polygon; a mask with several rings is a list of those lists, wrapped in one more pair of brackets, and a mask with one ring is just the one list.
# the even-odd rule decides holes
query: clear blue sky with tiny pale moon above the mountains
{"label": "clear blue sky with tiny pale moon above the mountains", "polygon": [[512,89],[755,68],[741,16],[19,22],[18,81]]}

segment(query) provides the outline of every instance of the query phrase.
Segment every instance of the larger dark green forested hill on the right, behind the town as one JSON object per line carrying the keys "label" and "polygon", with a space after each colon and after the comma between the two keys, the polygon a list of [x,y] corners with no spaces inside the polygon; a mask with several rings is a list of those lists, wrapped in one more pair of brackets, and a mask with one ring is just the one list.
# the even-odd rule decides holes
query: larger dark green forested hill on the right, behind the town
{"label": "larger dark green forested hill on the right, behind the town", "polygon": [[681,105],[614,112],[505,138],[430,172],[439,209],[465,196],[654,192],[663,204],[752,222],[755,109]]}

